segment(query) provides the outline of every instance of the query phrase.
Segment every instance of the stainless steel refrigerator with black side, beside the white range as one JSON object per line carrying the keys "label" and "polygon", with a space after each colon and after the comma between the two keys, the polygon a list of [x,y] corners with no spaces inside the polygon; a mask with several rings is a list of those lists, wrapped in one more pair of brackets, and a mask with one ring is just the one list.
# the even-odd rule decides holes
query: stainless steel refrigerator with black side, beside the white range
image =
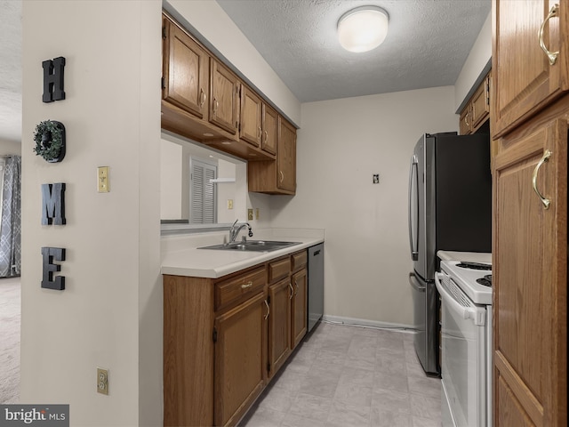
{"label": "stainless steel refrigerator with black side, beside the white range", "polygon": [[487,134],[426,133],[409,173],[414,346],[421,366],[439,375],[437,251],[492,251],[492,175]]}

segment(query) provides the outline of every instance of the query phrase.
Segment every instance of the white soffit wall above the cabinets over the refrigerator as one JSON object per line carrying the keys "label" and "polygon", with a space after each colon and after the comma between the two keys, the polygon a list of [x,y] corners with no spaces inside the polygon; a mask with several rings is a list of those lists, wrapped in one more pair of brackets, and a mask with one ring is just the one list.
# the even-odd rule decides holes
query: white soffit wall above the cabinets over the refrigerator
{"label": "white soffit wall above the cabinets over the refrigerator", "polygon": [[461,106],[472,86],[477,84],[488,61],[492,58],[492,12],[488,13],[484,25],[478,33],[477,40],[464,61],[461,74],[454,84],[454,111]]}

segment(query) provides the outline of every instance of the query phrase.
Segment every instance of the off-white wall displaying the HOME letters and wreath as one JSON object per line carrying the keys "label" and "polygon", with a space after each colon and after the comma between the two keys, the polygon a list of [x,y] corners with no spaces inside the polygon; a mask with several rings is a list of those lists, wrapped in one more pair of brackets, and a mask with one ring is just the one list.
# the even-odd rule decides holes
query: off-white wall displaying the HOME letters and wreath
{"label": "off-white wall displaying the HOME letters and wreath", "polygon": [[[161,425],[161,2],[23,2],[21,401],[67,403],[71,425]],[[41,63],[67,60],[45,104]],[[47,118],[63,162],[32,152]],[[96,168],[109,166],[110,192]],[[65,182],[67,224],[42,226],[43,183]],[[42,246],[67,249],[66,289],[42,289]],[[109,369],[108,396],[96,367]]]}

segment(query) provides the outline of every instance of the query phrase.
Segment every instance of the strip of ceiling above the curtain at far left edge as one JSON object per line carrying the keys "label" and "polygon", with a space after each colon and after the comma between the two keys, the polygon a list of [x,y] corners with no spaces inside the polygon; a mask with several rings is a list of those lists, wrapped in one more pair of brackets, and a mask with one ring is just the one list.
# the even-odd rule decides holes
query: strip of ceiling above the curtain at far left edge
{"label": "strip of ceiling above the curtain at far left edge", "polygon": [[20,0],[0,0],[0,22],[0,141],[20,141]]}

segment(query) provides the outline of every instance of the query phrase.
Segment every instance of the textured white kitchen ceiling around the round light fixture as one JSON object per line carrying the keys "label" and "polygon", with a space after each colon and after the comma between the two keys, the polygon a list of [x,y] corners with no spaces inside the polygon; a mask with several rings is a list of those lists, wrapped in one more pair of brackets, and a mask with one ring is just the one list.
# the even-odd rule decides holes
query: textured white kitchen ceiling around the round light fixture
{"label": "textured white kitchen ceiling around the round light fixture", "polygon": [[[454,85],[491,0],[217,0],[301,102]],[[341,15],[389,13],[385,42],[341,48]]]}

